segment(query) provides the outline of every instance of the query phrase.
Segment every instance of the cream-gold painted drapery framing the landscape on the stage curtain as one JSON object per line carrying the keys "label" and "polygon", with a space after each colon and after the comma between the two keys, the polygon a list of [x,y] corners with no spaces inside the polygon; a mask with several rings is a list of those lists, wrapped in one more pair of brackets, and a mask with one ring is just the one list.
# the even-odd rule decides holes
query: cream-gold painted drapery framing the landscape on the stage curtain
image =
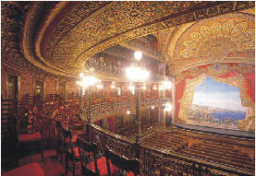
{"label": "cream-gold painted drapery framing the landscape on the stage curtain", "polygon": [[[219,65],[219,66],[226,67],[226,65]],[[221,72],[219,74],[214,74],[214,72],[213,72],[214,65],[207,65],[207,66],[205,66],[205,68],[201,69],[200,71],[194,69],[194,71],[192,71],[191,74],[188,74],[189,78],[186,78],[186,76],[181,78],[183,80],[185,79],[186,85],[184,88],[182,98],[180,100],[178,100],[178,102],[179,102],[179,107],[178,107],[179,111],[177,114],[178,120],[181,120],[182,123],[186,123],[188,121],[186,111],[189,110],[189,108],[192,104],[192,100],[193,100],[193,96],[194,96],[194,89],[198,85],[200,85],[201,82],[203,82],[203,80],[205,80],[205,78],[207,76],[209,76],[214,81],[221,82],[221,83],[239,88],[241,104],[243,107],[247,107],[248,109],[250,109],[251,114],[247,114],[247,116],[244,120],[239,121],[238,127],[241,130],[247,129],[247,130],[253,131],[254,127],[247,126],[247,124],[250,121],[254,120],[254,119],[250,119],[251,118],[250,116],[254,115],[254,117],[255,117],[255,107],[254,107],[255,102],[253,100],[251,100],[251,98],[247,94],[246,85],[247,85],[248,80],[246,79],[245,75],[250,74],[250,73],[253,74],[253,72],[255,71],[255,66],[254,65],[248,65],[248,66],[249,66],[249,69],[246,71],[236,69],[236,66],[234,66],[233,68],[226,67],[226,70],[224,70],[223,72]],[[197,71],[199,73],[196,73]],[[228,76],[226,78],[222,77],[222,76],[226,76],[227,74],[234,74],[234,76]],[[255,75],[254,75],[254,77],[255,77]],[[229,80],[229,78],[230,78],[230,80]]]}

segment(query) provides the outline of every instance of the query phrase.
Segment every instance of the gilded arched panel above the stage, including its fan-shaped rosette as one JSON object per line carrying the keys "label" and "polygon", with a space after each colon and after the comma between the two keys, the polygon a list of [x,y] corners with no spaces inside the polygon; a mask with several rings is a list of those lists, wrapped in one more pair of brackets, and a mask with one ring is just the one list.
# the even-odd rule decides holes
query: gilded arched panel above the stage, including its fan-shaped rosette
{"label": "gilded arched panel above the stage, including its fan-shaped rosette", "polygon": [[169,46],[166,51],[173,75],[211,63],[254,65],[254,15],[227,14],[188,23],[177,30],[173,37],[175,46]]}

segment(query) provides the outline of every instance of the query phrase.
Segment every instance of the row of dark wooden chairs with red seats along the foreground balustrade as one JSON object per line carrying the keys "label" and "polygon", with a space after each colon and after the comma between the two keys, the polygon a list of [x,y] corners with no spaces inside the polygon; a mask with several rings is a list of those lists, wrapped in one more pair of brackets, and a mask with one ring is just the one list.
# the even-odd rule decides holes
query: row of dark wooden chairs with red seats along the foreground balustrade
{"label": "row of dark wooden chairs with red seats along the foreground balustrade", "polygon": [[[66,161],[66,173],[72,170],[73,176],[81,167],[82,175],[138,175],[140,173],[140,160],[128,159],[117,155],[114,151],[105,147],[105,155],[100,156],[98,147],[92,143],[86,133],[72,135],[60,121],[56,121],[57,131],[57,155],[60,162],[63,156]],[[125,172],[124,172],[125,171]]]}

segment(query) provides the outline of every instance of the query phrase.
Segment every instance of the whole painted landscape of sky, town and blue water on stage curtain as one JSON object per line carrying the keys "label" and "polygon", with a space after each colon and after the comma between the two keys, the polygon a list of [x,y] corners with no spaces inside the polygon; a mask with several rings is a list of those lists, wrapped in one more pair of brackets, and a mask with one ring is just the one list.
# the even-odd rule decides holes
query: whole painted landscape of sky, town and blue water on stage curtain
{"label": "whole painted landscape of sky, town and blue water on stage curtain", "polygon": [[241,105],[239,88],[214,81],[207,76],[195,88],[188,111],[189,123],[239,130],[238,121],[245,119],[246,107]]}

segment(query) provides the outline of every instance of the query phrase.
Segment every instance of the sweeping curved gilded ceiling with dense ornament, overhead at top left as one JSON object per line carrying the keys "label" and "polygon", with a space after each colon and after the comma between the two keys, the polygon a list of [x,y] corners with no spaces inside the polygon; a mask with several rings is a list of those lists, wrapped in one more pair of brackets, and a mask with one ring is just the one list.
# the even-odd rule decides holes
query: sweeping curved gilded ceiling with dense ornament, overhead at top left
{"label": "sweeping curved gilded ceiling with dense ornament, overhead at top left", "polygon": [[[39,2],[34,6],[44,7]],[[29,55],[33,65],[75,76],[84,71],[86,59],[122,41],[251,6],[254,2],[59,2],[44,14],[31,36],[33,43],[24,40],[22,46],[24,51],[33,50]],[[36,24],[35,13],[31,8],[27,25]],[[31,28],[24,29],[23,36],[31,35]]]}

